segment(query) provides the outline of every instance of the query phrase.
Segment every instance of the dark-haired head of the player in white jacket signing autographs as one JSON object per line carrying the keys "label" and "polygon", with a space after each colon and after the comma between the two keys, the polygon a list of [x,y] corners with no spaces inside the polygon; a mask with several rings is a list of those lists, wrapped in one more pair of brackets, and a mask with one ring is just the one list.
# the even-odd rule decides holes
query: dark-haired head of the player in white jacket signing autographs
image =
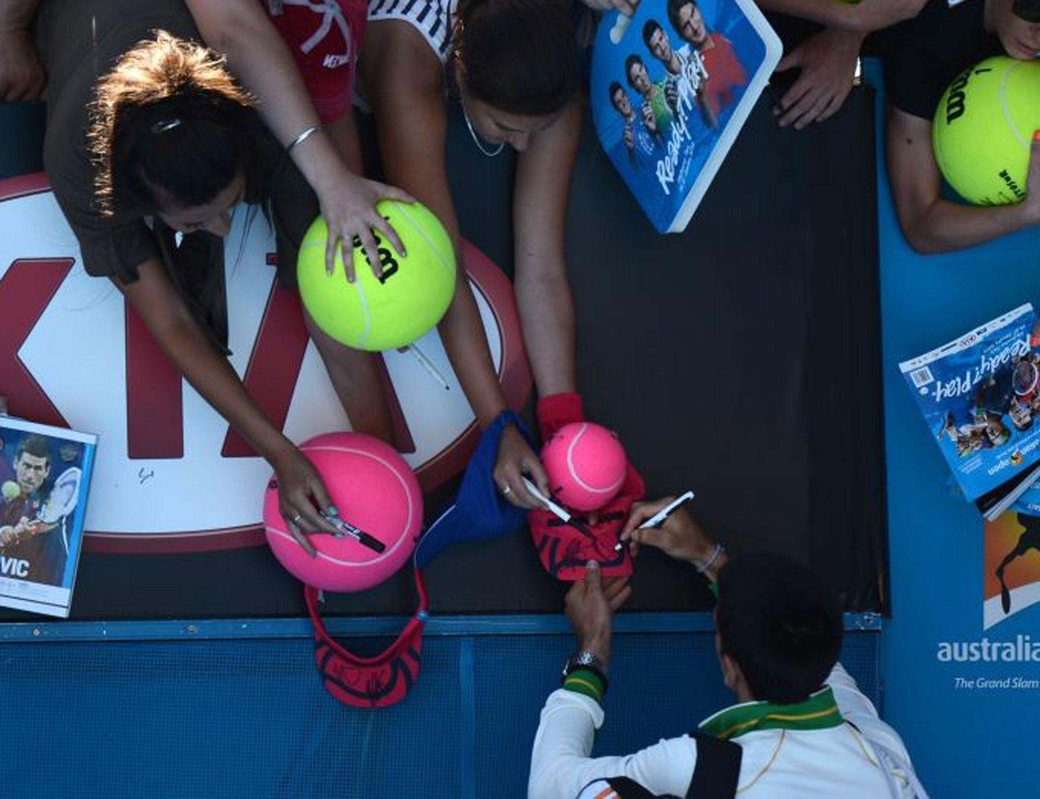
{"label": "dark-haired head of the player in white jacket signing autographs", "polygon": [[800,702],[841,651],[841,607],[809,569],[778,555],[730,559],[719,574],[717,648],[726,685],[758,700]]}

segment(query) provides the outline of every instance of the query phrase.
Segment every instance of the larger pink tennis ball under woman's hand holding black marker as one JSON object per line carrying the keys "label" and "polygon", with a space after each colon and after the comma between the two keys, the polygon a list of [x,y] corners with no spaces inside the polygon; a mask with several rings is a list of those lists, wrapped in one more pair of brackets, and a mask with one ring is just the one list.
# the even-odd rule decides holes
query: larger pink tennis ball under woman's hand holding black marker
{"label": "larger pink tennis ball under woman's hand holding black marker", "polygon": [[328,591],[379,585],[408,560],[422,524],[422,492],[415,473],[390,445],[362,433],[326,433],[300,446],[329,489],[341,519],[374,536],[378,552],[356,538],[310,536],[311,558],[296,543],[278,509],[272,480],[263,504],[264,532],[281,564],[304,583]]}

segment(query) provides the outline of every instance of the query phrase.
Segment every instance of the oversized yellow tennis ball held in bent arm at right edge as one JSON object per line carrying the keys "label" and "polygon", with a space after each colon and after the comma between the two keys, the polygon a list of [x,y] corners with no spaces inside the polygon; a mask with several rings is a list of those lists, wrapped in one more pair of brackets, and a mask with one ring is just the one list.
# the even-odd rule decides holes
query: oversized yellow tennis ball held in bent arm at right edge
{"label": "oversized yellow tennis ball held in bent arm at right edge", "polygon": [[1040,129],[1040,62],[987,58],[950,84],[932,122],[935,160],[974,205],[1025,197],[1033,132]]}

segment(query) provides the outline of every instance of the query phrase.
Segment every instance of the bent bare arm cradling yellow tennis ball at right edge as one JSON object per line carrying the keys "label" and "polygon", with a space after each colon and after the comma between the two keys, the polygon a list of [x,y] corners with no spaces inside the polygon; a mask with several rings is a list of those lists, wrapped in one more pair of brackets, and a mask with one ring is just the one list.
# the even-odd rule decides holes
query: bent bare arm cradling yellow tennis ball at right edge
{"label": "bent bare arm cradling yellow tennis ball at right edge", "polygon": [[[967,206],[940,197],[932,123],[889,107],[888,180],[900,226],[918,253],[942,253],[989,241],[1040,222],[1040,158],[1033,143],[1029,195],[1016,205]],[[1036,190],[1034,190],[1036,189]]]}

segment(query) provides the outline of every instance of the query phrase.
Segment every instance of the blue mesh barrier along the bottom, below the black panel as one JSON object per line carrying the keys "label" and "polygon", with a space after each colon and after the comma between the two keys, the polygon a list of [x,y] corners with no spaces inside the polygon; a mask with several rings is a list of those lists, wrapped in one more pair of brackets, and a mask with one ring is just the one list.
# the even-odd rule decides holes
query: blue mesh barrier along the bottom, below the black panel
{"label": "blue mesh barrier along the bottom, below the black panel", "polygon": [[[685,624],[696,632],[647,624],[657,632],[615,637],[597,753],[688,732],[733,701],[706,632],[711,617],[697,616]],[[644,626],[638,616],[620,620],[629,630]],[[527,623],[563,629],[566,620]],[[493,624],[498,633],[474,634]],[[523,797],[539,711],[574,646],[569,634],[515,635],[511,617],[434,624],[408,698],[366,711],[326,694],[306,622],[290,623],[304,636],[282,639],[207,637],[214,625],[214,635],[237,636],[232,627],[251,622],[186,625],[173,640],[144,638],[155,627],[142,622],[80,628],[94,640],[48,640],[47,628],[62,624],[0,627],[0,796]],[[118,640],[100,640],[103,627]],[[847,634],[842,651],[874,698],[879,639]]]}

